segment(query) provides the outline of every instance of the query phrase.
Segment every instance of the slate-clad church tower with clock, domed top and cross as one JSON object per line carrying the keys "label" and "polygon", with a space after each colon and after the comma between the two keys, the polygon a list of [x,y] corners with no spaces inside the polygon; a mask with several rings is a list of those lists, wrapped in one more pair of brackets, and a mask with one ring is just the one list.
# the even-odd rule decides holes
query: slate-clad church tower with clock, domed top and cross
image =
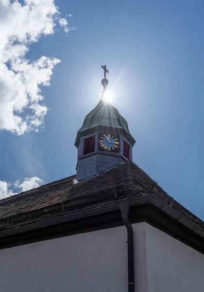
{"label": "slate-clad church tower with clock, domed top and cross", "polygon": [[75,146],[77,153],[77,181],[91,179],[102,171],[133,160],[132,147],[135,139],[131,136],[126,120],[109,102],[105,101],[109,73],[102,66],[103,92],[99,104],[85,117],[82,128],[77,132]]}

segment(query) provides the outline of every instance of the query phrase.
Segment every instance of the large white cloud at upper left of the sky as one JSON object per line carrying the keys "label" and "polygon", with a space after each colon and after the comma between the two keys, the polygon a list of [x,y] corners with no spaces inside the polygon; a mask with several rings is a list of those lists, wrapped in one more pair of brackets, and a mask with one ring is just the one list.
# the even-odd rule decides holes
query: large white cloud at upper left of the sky
{"label": "large white cloud at upper left of the sky", "polygon": [[0,129],[17,135],[43,127],[47,107],[39,86],[49,86],[57,58],[26,59],[29,45],[54,33],[56,24],[71,30],[54,0],[0,0]]}

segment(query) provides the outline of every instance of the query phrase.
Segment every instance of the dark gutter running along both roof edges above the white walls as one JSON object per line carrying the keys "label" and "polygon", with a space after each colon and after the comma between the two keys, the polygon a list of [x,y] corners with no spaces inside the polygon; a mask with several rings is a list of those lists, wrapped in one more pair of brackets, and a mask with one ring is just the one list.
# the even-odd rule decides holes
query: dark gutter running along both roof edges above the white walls
{"label": "dark gutter running along both roof edges above the white walls", "polygon": [[[153,194],[143,195],[137,198],[130,198],[126,200],[129,207],[142,205],[142,204],[152,204],[153,206],[161,209],[164,213],[168,214],[171,218],[178,220],[188,229],[198,234],[199,236],[204,238],[204,230],[200,228],[197,224],[193,223],[191,220],[187,219],[184,215],[179,213],[170,207],[167,203],[163,202],[161,199],[157,198]],[[58,218],[52,218],[48,220],[44,220],[41,222],[31,223],[27,226],[15,227],[12,229],[8,229],[0,232],[0,237],[7,237],[10,235],[14,235],[17,233],[27,232],[38,228],[43,228],[47,226],[51,226],[54,224],[59,224],[63,222],[73,221],[76,219],[83,219],[99,214],[104,214],[116,210],[120,210],[121,200],[115,201],[113,203],[108,203],[103,206],[97,206],[94,208],[90,208],[84,211],[78,211],[75,213],[69,212],[66,215],[62,215]]]}

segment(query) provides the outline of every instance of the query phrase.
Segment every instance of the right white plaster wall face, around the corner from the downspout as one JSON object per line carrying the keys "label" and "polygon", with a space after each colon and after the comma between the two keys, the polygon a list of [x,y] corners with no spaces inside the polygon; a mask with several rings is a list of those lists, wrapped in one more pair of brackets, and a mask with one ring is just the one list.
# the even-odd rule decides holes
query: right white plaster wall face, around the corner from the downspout
{"label": "right white plaster wall face, around the corner from the downspout", "polygon": [[148,292],[204,292],[204,255],[145,223]]}

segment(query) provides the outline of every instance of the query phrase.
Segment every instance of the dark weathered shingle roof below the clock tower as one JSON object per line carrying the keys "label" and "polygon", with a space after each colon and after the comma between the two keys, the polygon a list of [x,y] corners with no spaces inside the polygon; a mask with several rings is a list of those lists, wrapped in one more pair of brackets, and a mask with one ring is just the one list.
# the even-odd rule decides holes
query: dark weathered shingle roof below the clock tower
{"label": "dark weathered shingle roof below the clock tower", "polygon": [[53,213],[144,194],[155,195],[204,229],[203,221],[173,200],[136,164],[127,161],[88,181],[78,183],[73,175],[1,200],[0,231]]}

